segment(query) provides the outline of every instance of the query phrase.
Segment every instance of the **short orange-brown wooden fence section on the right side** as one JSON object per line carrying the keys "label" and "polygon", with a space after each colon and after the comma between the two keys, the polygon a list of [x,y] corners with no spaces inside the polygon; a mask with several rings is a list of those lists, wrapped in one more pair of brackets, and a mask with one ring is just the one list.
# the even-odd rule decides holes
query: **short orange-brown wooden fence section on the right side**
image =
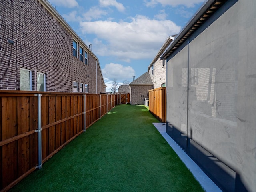
{"label": "short orange-brown wooden fence section on the right side", "polygon": [[166,87],[148,91],[149,111],[160,122],[166,122]]}

